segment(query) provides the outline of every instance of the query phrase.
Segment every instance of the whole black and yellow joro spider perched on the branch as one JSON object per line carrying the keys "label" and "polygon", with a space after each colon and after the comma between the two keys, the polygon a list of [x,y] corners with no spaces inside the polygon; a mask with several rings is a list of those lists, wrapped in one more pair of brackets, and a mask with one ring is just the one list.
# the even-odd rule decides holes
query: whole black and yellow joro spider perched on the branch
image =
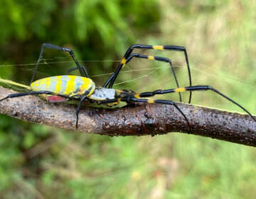
{"label": "whole black and yellow joro spider perched on the branch", "polygon": [[[55,50],[63,50],[68,51],[70,53],[71,57],[73,58],[76,68],[70,68],[68,70],[68,73],[73,70],[79,70],[81,76],[75,76],[75,75],[58,75],[53,77],[46,77],[41,80],[34,80],[34,77],[36,75],[36,70],[38,69],[38,63],[40,63],[41,58],[43,57],[43,51],[45,48],[52,48]],[[132,53],[132,50],[134,48],[145,48],[145,49],[155,49],[155,50],[176,50],[176,51],[183,51],[185,58],[186,58],[186,65],[188,69],[188,78],[189,78],[189,86],[188,87],[179,87],[178,80],[176,78],[176,74],[174,72],[174,67],[171,63],[171,60],[168,58],[163,57],[156,57],[151,55],[142,55],[139,53]],[[174,75],[174,80],[176,82],[177,87],[172,88],[169,90],[154,90],[152,92],[141,92],[136,93],[131,90],[116,90],[113,89],[112,86],[114,84],[114,81],[117,78],[117,75],[119,74],[120,70],[124,68],[124,66],[129,63],[132,58],[142,58],[142,59],[149,59],[149,60],[156,60],[160,62],[166,62],[169,63],[171,66],[171,70]],[[223,95],[223,93],[219,92],[218,90],[215,90],[213,87],[210,87],[209,85],[196,85],[192,86],[191,81],[191,72],[189,68],[188,63],[188,55],[186,53],[186,48],[177,46],[177,45],[132,45],[128,48],[126,53],[124,54],[124,58],[122,58],[121,63],[119,63],[117,69],[114,71],[114,73],[109,77],[107,82],[102,87],[95,87],[95,82],[93,82],[88,75],[88,72],[85,68],[85,66],[81,66],[78,63],[78,60],[75,58],[75,54],[73,53],[73,50],[70,48],[62,48],[57,45],[53,45],[50,43],[43,43],[41,47],[41,53],[39,55],[38,61],[36,63],[36,67],[33,70],[33,75],[31,78],[30,83],[30,90],[29,92],[22,92],[22,93],[15,93],[7,95],[6,97],[0,99],[0,102],[4,99],[13,98],[13,97],[22,97],[26,95],[50,95],[47,97],[49,102],[64,102],[66,100],[79,100],[78,108],[76,109],[75,115],[76,115],[76,124],[75,127],[78,129],[78,116],[80,112],[80,107],[82,102],[89,101],[89,102],[97,102],[97,104],[119,104],[119,102],[127,102],[127,104],[131,102],[144,102],[144,103],[154,103],[154,104],[169,104],[173,105],[178,112],[181,113],[181,115],[186,119],[186,122],[188,124],[189,132],[191,131],[191,125],[189,124],[189,121],[186,117],[186,115],[181,111],[181,109],[178,108],[176,103],[171,100],[165,100],[165,99],[150,99],[147,97],[152,97],[155,95],[164,95],[171,92],[177,92],[179,94],[179,98],[181,101],[181,95],[180,92],[188,91],[190,92],[188,103],[191,102],[191,93],[195,90],[212,90],[213,92],[217,93],[218,95],[224,97],[225,99],[228,99],[230,102],[233,102],[233,104],[236,104],[238,107],[243,109],[247,114],[252,117],[252,114],[248,112],[244,107],[242,107],[240,104],[235,102],[233,99],[230,99],[226,95]],[[256,119],[252,117],[252,119],[256,122]]]}

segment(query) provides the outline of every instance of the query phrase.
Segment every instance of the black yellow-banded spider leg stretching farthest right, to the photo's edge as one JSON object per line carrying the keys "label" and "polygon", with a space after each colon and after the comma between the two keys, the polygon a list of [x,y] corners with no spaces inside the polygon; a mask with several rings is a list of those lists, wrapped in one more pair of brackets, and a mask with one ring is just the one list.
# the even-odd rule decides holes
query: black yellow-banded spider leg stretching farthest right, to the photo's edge
{"label": "black yellow-banded spider leg stretching farthest right, to the photo's edge", "polygon": [[164,95],[164,94],[171,93],[171,92],[185,92],[185,91],[192,92],[192,91],[196,91],[196,90],[198,90],[198,91],[212,90],[213,92],[215,92],[218,95],[224,97],[225,99],[228,99],[228,101],[233,102],[233,104],[236,104],[238,107],[243,109],[256,122],[256,119],[252,116],[252,114],[250,114],[250,112],[248,112],[247,109],[245,109],[240,104],[238,104],[238,102],[235,102],[233,99],[230,99],[230,97],[224,95],[222,92],[219,92],[218,90],[215,90],[215,88],[210,87],[208,85],[198,85],[198,86],[191,86],[191,87],[179,87],[179,88],[176,88],[176,89],[169,89],[169,90],[155,90],[153,92],[142,92],[142,93],[139,93],[139,94],[134,95],[134,96],[135,97],[152,97],[154,95]]}

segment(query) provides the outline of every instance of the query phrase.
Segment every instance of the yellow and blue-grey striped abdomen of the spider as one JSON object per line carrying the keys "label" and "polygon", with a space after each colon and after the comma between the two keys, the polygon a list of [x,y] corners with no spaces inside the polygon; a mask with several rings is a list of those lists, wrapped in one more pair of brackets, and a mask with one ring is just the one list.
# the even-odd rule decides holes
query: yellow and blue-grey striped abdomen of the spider
{"label": "yellow and blue-grey striped abdomen of the spider", "polygon": [[95,82],[90,78],[75,75],[46,77],[31,83],[33,91],[50,91],[69,97],[90,96],[95,90]]}

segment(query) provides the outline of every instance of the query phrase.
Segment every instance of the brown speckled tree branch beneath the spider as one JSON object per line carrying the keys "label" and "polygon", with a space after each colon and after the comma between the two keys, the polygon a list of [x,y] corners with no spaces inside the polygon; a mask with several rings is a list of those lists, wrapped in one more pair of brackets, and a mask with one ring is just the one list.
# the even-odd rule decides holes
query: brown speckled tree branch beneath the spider
{"label": "brown speckled tree branch beneath the spider", "polygon": [[[0,87],[0,99],[11,93],[15,92]],[[256,146],[256,122],[247,114],[176,104],[190,121],[191,134]],[[75,130],[75,108],[73,104],[52,104],[31,95],[0,102],[1,114],[69,130]],[[188,133],[188,125],[171,105],[141,104],[115,109],[83,107],[77,130],[109,136],[141,136]]]}

